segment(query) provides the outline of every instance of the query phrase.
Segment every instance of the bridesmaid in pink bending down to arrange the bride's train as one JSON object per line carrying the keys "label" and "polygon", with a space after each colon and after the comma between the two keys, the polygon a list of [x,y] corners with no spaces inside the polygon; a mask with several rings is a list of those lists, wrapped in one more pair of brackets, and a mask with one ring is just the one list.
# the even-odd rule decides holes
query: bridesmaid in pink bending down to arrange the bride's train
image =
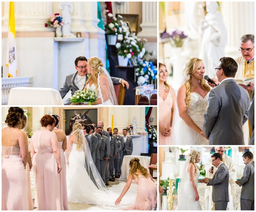
{"label": "bridesmaid in pink bending down to arrange the bride's train", "polygon": [[122,210],[152,210],[157,201],[157,185],[147,169],[139,161],[138,158],[131,159],[126,185],[120,196],[116,199],[115,205],[119,205],[123,196],[130,188],[132,180],[138,185],[135,203]]}

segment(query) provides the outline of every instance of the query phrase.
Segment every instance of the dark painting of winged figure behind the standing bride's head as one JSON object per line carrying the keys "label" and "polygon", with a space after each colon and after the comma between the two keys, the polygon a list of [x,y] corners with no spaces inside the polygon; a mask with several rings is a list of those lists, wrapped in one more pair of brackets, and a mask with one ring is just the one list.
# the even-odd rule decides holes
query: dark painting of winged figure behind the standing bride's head
{"label": "dark painting of winged figure behind the standing bride's head", "polygon": [[96,124],[98,123],[98,108],[84,109],[63,109],[65,110],[65,133],[69,135],[72,132],[74,123]]}

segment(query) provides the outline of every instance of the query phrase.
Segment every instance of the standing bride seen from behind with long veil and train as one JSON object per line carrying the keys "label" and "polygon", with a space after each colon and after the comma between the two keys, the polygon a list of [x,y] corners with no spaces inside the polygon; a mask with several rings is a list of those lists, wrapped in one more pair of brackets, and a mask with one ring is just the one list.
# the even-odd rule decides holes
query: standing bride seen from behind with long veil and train
{"label": "standing bride seen from behind with long veil and train", "polygon": [[[102,207],[115,206],[115,200],[119,195],[106,188],[94,165],[80,123],[73,125],[73,132],[68,139],[66,179],[68,202],[101,205]],[[126,204],[132,203],[129,200]]]}

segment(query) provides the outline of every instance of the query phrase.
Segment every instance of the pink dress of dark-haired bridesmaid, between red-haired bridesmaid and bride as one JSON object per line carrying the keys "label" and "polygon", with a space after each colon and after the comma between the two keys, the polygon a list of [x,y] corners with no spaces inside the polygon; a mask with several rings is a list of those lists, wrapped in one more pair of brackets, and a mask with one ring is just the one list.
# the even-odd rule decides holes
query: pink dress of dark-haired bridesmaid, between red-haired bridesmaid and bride
{"label": "pink dress of dark-haired bridesmaid, between red-haired bridesmaid and bride", "polygon": [[60,202],[61,210],[68,210],[68,192],[67,192],[67,182],[66,182],[66,160],[65,154],[62,149],[63,141],[58,141],[58,147],[60,149],[60,160],[62,170],[60,174]]}

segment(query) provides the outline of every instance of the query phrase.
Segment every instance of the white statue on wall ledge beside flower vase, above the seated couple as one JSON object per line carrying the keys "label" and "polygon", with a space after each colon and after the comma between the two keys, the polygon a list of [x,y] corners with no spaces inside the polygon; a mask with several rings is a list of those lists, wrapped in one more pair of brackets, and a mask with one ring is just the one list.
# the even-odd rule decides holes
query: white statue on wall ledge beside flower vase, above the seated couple
{"label": "white statue on wall ledge beside flower vase, above the seated couple", "polygon": [[63,37],[76,37],[74,34],[70,32],[70,24],[71,24],[71,15],[73,12],[73,5],[71,2],[61,2],[59,4],[59,9],[62,10],[62,22],[64,23],[62,27],[62,35]]}

